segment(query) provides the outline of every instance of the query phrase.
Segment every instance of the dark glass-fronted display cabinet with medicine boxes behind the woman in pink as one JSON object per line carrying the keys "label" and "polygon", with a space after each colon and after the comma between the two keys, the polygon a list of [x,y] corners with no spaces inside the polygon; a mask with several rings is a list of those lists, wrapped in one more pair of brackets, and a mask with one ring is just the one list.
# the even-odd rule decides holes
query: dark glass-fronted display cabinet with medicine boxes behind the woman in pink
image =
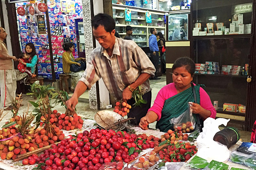
{"label": "dark glass-fronted display cabinet with medicine boxes behind the woman in pink", "polygon": [[194,0],[191,5],[193,81],[205,85],[217,103],[217,117],[232,119],[243,130],[250,95],[247,77],[254,67],[249,65],[252,11],[252,0]]}

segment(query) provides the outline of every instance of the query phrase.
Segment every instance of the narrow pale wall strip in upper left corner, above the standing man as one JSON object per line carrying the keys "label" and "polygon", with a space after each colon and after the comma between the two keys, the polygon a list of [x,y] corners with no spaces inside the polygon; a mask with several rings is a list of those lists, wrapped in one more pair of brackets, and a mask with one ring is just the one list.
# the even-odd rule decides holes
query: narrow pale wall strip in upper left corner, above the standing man
{"label": "narrow pale wall strip in upper left corner, above the standing man", "polygon": [[7,9],[6,9],[6,5],[5,5],[5,0],[1,0],[1,1],[2,1],[2,13],[3,13],[3,17],[4,17],[4,23],[5,23],[5,31],[8,34],[7,39],[6,39],[6,42],[7,42],[6,45],[7,45],[9,55],[12,56],[12,44],[11,44]]}

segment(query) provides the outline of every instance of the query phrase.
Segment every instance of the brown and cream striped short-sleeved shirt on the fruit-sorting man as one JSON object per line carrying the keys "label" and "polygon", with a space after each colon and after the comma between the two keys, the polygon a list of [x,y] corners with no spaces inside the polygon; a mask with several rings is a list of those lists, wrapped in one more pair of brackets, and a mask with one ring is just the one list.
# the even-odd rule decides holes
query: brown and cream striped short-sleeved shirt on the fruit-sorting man
{"label": "brown and cream striped short-sleeved shirt on the fruit-sorting man", "polygon": [[[123,90],[135,82],[141,73],[154,76],[155,71],[148,56],[135,42],[116,38],[112,56],[101,46],[92,51],[83,77],[79,81],[91,88],[102,78],[109,93],[120,100]],[[152,90],[149,79],[141,87],[144,93]]]}

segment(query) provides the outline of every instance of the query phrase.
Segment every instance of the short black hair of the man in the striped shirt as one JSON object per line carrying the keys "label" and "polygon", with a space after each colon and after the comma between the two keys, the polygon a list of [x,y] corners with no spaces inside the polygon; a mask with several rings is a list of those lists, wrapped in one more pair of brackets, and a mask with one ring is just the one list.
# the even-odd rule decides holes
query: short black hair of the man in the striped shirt
{"label": "short black hair of the man in the striped shirt", "polygon": [[116,28],[114,19],[108,14],[97,14],[92,18],[92,28],[97,29],[98,26],[104,26],[104,29],[111,33]]}

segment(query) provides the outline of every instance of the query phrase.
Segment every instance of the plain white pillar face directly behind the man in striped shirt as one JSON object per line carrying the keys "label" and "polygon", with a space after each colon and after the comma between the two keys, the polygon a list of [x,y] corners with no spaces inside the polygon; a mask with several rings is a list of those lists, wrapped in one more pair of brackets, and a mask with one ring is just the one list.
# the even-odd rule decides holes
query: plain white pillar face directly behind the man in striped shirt
{"label": "plain white pillar face directly behind the man in striped shirt", "polygon": [[[103,0],[93,0],[93,9],[94,15],[103,13]],[[100,44],[96,40],[96,47]],[[106,106],[109,105],[109,91],[107,90],[102,79],[99,80],[99,89],[100,89],[100,109],[106,109]]]}

